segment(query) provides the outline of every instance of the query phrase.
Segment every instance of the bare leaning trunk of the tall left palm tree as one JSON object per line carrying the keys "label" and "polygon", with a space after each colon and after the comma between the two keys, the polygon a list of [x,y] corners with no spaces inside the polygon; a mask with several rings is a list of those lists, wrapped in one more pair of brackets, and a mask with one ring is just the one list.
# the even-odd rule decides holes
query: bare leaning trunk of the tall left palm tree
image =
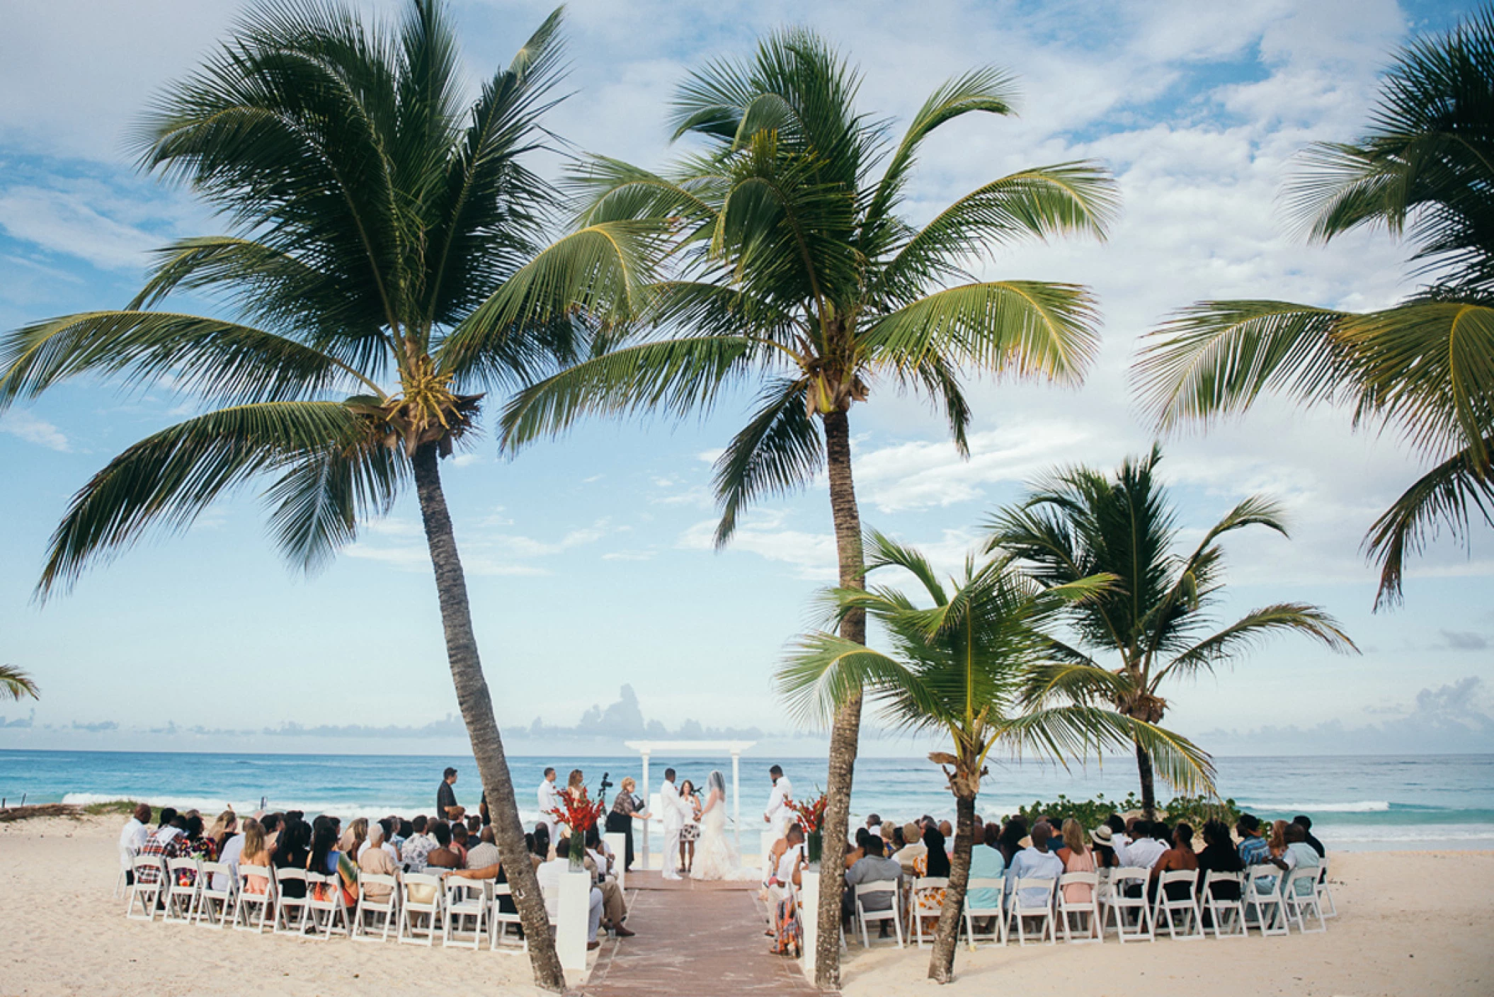
{"label": "bare leaning trunk of the tall left palm tree", "polygon": [[441,468],[435,444],[426,444],[415,451],[415,492],[420,496],[420,516],[426,525],[426,543],[430,546],[430,564],[436,570],[436,595],[441,601],[441,623],[447,637],[447,661],[451,664],[451,682],[457,689],[457,704],[468,737],[472,738],[472,755],[477,758],[478,777],[487,792],[487,807],[498,830],[499,855],[514,891],[514,906],[524,925],[529,940],[529,961],[533,966],[535,984],[544,990],[565,990],[565,970],[556,955],[550,937],[550,916],[539,894],[539,879],[526,859],[524,827],[518,822],[518,801],[514,798],[514,780],[503,758],[503,738],[493,719],[493,698],[483,677],[483,662],[477,652],[477,637],[472,634],[472,611],[466,598],[466,575],[457,556],[457,540],[451,531],[451,514],[447,511],[447,496],[441,490]]}

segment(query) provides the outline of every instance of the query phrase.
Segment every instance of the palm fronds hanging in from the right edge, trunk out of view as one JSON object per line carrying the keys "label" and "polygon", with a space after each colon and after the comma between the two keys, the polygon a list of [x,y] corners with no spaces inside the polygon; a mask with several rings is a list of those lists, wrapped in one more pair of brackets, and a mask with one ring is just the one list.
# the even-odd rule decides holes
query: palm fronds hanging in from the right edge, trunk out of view
{"label": "palm fronds hanging in from the right edge, trunk out of view", "polygon": [[1373,312],[1280,300],[1198,302],[1150,333],[1135,363],[1156,425],[1210,423],[1262,393],[1349,404],[1431,468],[1380,514],[1366,553],[1374,608],[1401,599],[1406,559],[1440,528],[1494,525],[1494,9],[1400,52],[1369,133],[1318,143],[1288,188],[1313,241],[1410,227],[1430,287]]}

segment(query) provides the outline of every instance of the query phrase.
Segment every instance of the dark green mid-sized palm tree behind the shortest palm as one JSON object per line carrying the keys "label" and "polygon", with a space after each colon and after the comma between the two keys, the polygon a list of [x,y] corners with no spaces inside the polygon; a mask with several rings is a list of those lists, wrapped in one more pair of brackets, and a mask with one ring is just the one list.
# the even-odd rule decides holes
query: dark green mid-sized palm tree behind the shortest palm
{"label": "dark green mid-sized palm tree behind the shortest palm", "polygon": [[[1250,496],[1209,528],[1186,556],[1176,552],[1177,514],[1156,478],[1158,448],[1125,460],[1115,478],[1091,468],[1067,468],[1038,483],[1020,505],[988,523],[991,550],[1023,562],[1041,584],[1062,587],[1095,574],[1116,584],[1070,608],[1079,647],[1115,652],[1112,670],[1079,647],[1055,643],[1062,665],[1046,683],[1079,701],[1109,701],[1125,716],[1161,723],[1167,700],[1158,691],[1231,664],[1276,632],[1300,632],[1333,650],[1358,650],[1337,622],[1316,605],[1276,602],[1218,628],[1210,610],[1224,589],[1219,538],[1247,526],[1286,535],[1282,511]],[[1156,812],[1152,753],[1135,743],[1141,806]]]}

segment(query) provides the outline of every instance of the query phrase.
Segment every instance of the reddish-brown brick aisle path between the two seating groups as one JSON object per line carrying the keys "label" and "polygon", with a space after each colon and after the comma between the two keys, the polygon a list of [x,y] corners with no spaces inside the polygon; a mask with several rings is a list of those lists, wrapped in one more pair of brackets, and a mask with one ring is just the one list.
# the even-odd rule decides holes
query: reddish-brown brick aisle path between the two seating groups
{"label": "reddish-brown brick aisle path between the two seating groups", "polygon": [[[636,891],[636,892],[635,892]],[[665,882],[629,873],[627,927],[602,949],[581,993],[589,997],[819,996],[796,960],[772,955],[756,883]]]}

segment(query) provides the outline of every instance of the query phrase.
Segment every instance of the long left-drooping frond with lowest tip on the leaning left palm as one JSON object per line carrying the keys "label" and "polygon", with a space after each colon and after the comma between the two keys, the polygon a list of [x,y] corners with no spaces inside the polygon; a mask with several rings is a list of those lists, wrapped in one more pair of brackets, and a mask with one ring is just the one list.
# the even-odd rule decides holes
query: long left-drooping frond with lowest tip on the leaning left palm
{"label": "long left-drooping frond with lowest tip on the leaning left palm", "polygon": [[363,445],[359,420],[336,402],[264,402],[188,419],[133,444],[73,496],[37,583],[45,598],[84,568],[133,546],[152,526],[181,532],[224,490],[249,477]]}

